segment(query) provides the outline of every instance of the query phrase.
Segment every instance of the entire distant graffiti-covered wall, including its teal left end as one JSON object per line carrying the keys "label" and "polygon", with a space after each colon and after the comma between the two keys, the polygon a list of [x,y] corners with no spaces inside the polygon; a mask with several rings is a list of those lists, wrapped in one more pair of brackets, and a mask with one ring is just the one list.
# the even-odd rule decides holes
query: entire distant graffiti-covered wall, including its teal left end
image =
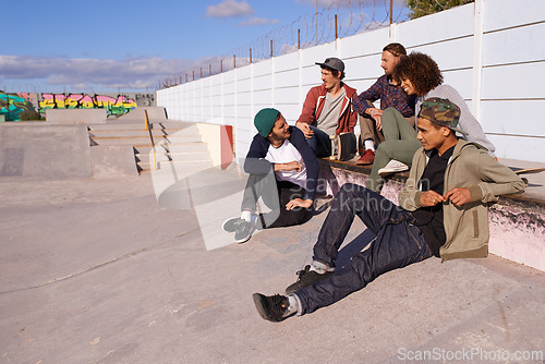
{"label": "entire distant graffiti-covered wall, including its teal left end", "polygon": [[[136,99],[137,101],[135,101]],[[45,113],[46,109],[106,109],[109,116],[122,116],[140,106],[155,104],[154,94],[94,95],[88,94],[36,94],[0,92],[0,116],[5,121],[21,120],[24,111]]]}

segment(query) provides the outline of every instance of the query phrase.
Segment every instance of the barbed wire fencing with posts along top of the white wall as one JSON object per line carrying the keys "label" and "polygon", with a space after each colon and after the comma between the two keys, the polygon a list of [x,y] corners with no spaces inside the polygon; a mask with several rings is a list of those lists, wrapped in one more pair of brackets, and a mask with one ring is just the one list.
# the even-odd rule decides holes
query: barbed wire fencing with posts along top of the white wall
{"label": "barbed wire fencing with posts along top of the white wall", "polygon": [[315,14],[302,15],[291,24],[275,28],[222,56],[201,60],[193,68],[159,81],[158,88],[231,71],[390,23],[401,23],[409,20],[409,13],[402,0],[340,0]]}

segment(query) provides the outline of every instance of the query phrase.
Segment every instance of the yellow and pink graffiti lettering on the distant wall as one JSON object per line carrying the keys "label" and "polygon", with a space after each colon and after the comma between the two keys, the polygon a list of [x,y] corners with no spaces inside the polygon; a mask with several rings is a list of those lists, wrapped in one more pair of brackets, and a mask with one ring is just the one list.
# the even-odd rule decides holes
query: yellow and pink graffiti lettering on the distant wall
{"label": "yellow and pink graffiti lettering on the distant wall", "polygon": [[106,109],[108,114],[120,116],[136,108],[136,102],[126,96],[111,96],[87,94],[41,94],[39,111],[46,109]]}

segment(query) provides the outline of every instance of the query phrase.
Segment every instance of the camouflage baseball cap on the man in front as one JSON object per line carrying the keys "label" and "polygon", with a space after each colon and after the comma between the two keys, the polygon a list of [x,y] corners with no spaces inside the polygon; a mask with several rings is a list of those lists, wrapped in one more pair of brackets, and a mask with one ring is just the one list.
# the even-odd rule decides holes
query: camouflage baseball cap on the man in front
{"label": "camouflage baseball cap on the man in front", "polygon": [[432,97],[422,102],[419,118],[429,120],[440,126],[446,126],[453,132],[468,135],[458,128],[460,120],[460,108],[449,99]]}

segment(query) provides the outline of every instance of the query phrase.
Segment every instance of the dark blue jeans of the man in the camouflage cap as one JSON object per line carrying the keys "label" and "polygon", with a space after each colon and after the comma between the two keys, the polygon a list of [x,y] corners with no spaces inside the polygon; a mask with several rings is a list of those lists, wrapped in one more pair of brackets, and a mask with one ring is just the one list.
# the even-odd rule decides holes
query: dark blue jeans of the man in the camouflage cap
{"label": "dark blue jeans of the man in the camouflage cap", "polygon": [[295,292],[300,313],[308,314],[361,290],[378,276],[432,256],[412,215],[364,186],[347,183],[335,196],[314,245],[314,260],[335,266],[340,245],[358,215],[375,235],[328,279]]}

